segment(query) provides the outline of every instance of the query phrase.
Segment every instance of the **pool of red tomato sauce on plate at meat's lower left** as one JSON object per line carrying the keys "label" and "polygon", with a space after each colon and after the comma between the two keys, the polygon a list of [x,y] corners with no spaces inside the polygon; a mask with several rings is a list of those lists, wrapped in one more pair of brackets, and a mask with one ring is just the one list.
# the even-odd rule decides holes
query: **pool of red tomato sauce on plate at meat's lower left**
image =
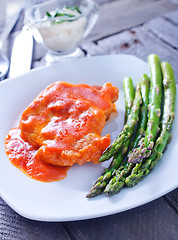
{"label": "pool of red tomato sauce on plate at meat's lower left", "polygon": [[20,129],[11,129],[5,140],[6,153],[14,166],[29,177],[43,182],[58,181],[66,177],[69,167],[54,166],[37,159],[36,149],[25,142],[20,134]]}

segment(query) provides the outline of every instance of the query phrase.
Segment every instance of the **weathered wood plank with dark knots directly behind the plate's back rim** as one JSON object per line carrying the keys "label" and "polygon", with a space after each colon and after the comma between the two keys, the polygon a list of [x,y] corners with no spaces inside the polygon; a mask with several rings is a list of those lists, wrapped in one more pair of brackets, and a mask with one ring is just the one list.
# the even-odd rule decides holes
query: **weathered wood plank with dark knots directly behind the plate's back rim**
{"label": "weathered wood plank with dark knots directly behind the plate's back rim", "polygon": [[145,61],[150,53],[156,53],[161,60],[172,64],[178,82],[178,51],[157,38],[144,26],[100,40],[97,44],[85,42],[82,48],[89,55],[125,53],[135,55]]}

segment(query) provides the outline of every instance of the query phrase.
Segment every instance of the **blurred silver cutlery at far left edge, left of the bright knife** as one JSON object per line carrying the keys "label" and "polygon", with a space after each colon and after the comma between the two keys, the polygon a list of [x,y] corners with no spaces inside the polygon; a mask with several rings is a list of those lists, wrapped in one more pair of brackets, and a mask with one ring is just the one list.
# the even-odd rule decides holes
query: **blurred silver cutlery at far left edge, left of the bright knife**
{"label": "blurred silver cutlery at far left edge, left of the bright knife", "polygon": [[14,25],[16,24],[22,8],[19,6],[19,8],[18,9],[16,8],[15,10],[16,12],[13,13],[11,17],[7,16],[10,17],[10,20],[5,25],[4,31],[0,36],[0,80],[4,79],[9,69],[9,59],[5,56],[3,52],[3,45],[4,42],[7,40],[7,37],[9,36],[10,32],[12,31]]}

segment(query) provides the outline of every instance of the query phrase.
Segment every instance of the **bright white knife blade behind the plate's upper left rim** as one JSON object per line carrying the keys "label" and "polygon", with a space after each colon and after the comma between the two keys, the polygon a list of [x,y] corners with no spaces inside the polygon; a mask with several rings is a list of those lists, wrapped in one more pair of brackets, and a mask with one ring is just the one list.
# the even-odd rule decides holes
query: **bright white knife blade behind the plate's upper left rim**
{"label": "bright white knife blade behind the plate's upper left rim", "polygon": [[31,69],[33,56],[33,35],[31,30],[22,29],[15,38],[10,60],[9,77],[16,77]]}

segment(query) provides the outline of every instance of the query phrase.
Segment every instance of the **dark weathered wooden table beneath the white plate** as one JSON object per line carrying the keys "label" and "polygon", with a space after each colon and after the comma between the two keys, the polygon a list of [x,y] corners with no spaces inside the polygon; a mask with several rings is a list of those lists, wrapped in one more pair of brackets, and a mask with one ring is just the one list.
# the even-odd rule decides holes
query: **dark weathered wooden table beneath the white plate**
{"label": "dark weathered wooden table beneath the white plate", "polygon": [[[147,60],[156,53],[169,61],[178,82],[178,0],[97,0],[96,27],[81,48],[87,56],[132,54]],[[22,27],[23,15],[8,44]],[[9,45],[9,46],[10,46]],[[10,57],[11,49],[8,47]],[[33,68],[45,50],[35,44]],[[177,240],[178,189],[126,212],[92,220],[39,222],[21,217],[0,199],[0,239],[28,240]]]}

